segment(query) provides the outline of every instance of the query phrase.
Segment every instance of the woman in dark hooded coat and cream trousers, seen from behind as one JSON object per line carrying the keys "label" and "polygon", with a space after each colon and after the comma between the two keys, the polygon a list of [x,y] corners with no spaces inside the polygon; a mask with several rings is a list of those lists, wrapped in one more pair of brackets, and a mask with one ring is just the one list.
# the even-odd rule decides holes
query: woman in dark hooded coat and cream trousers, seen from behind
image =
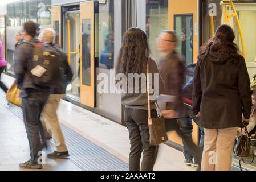
{"label": "woman in dark hooded coat and cream trousers, seen from behind", "polygon": [[[200,48],[194,72],[193,113],[205,140],[202,170],[230,170],[235,135],[251,113],[250,79],[230,26],[221,25]],[[214,153],[213,153],[214,152]],[[214,158],[215,161],[209,163]]]}

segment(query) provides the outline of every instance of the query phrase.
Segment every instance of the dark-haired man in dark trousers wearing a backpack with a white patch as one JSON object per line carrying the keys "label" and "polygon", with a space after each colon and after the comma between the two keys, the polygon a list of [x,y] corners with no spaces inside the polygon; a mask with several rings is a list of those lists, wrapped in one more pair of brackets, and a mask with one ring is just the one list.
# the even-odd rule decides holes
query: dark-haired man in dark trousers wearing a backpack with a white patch
{"label": "dark-haired man in dark trousers wearing a backpack with a white patch", "polygon": [[[52,63],[49,60],[56,57],[52,52],[36,48],[40,41],[35,38],[35,35],[36,24],[31,21],[26,22],[23,30],[23,38],[26,42],[19,45],[14,64],[16,82],[22,90],[20,97],[22,98],[23,118],[30,146],[30,160],[19,164],[19,167],[27,169],[43,167],[40,161],[42,155],[39,135],[39,130],[42,131],[40,114],[50,94],[50,84],[48,83],[50,83],[49,79],[53,79],[52,70],[55,69],[52,68]],[[43,55],[36,55],[35,50],[43,52]],[[48,50],[50,49],[48,48]],[[39,65],[40,60],[43,60],[41,65]],[[48,72],[49,68],[51,68],[50,73]],[[58,70],[55,72],[58,73]],[[44,134],[42,132],[40,134],[44,138]]]}

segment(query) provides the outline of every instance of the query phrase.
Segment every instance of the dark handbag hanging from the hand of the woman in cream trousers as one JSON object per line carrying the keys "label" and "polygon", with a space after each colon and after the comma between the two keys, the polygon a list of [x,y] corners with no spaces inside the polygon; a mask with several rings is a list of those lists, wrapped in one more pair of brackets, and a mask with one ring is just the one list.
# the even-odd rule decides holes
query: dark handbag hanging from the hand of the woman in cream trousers
{"label": "dark handbag hanging from the hand of the woman in cream trousers", "polygon": [[[235,144],[235,154],[239,158],[241,158],[239,160],[239,167],[241,171],[242,171],[241,160],[243,163],[245,163],[243,158],[249,158],[251,156],[250,138],[249,138],[249,133],[248,133],[245,121],[243,121],[243,127],[245,128],[245,135],[242,135],[242,136],[240,135],[237,139],[237,143]],[[241,129],[241,133],[242,133],[242,129]],[[253,154],[253,159],[249,164],[253,163],[253,160],[254,160],[254,154]]]}

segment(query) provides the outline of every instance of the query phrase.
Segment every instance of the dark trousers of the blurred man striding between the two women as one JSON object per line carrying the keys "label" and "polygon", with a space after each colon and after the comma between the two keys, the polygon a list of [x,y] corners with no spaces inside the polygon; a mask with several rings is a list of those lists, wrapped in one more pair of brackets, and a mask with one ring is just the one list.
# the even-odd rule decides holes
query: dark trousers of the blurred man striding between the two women
{"label": "dark trousers of the blurred man striding between the two women", "polygon": [[192,138],[186,137],[181,129],[180,126],[178,126],[178,119],[165,119],[165,127],[166,131],[176,131],[179,137],[184,140],[184,143],[188,147],[188,152],[194,156],[194,159],[196,160],[197,164],[201,164],[202,160],[202,148],[197,147],[196,144],[194,144]]}

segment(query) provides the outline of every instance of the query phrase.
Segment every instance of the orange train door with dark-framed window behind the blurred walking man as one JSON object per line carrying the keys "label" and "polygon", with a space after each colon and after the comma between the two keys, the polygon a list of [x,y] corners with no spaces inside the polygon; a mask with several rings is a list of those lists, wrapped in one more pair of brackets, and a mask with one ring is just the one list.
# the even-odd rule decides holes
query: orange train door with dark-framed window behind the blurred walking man
{"label": "orange train door with dark-framed window behind the blurred walking man", "polygon": [[[198,0],[169,0],[168,27],[175,30],[178,36],[176,51],[185,58],[186,64],[197,60],[198,51]],[[186,81],[188,81],[187,78]],[[193,141],[198,142],[198,127],[193,123]],[[168,133],[172,142],[182,145],[182,140],[175,131]]]}

